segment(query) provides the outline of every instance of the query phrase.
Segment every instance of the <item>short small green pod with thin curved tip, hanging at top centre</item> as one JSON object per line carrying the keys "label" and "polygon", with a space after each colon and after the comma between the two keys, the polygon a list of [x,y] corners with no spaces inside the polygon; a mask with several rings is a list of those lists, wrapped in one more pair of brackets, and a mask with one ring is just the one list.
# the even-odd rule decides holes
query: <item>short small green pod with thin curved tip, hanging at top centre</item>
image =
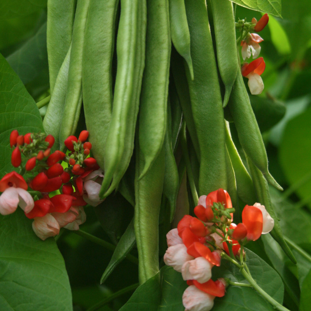
{"label": "short small green pod with thin curved tip, hanging at top centre", "polygon": [[190,76],[193,80],[190,33],[183,0],[169,0],[169,26],[174,47],[187,62]]}

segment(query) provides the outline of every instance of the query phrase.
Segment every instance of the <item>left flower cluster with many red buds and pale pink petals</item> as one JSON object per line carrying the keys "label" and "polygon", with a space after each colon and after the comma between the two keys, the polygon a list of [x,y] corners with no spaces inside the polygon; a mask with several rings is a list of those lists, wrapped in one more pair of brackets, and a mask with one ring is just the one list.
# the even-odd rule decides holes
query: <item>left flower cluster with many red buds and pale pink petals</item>
{"label": "left flower cluster with many red buds and pale pink petals", "polygon": [[[42,240],[57,235],[62,227],[78,230],[86,220],[83,206],[102,202],[98,193],[104,173],[89,157],[92,145],[87,138],[88,131],[79,138],[69,136],[64,142],[67,154],[51,153],[52,135],[19,135],[13,130],[11,162],[19,173],[12,171],[0,180],[0,213],[12,214],[20,206],[26,217],[34,219],[33,230]],[[67,162],[65,169],[61,161]],[[57,190],[59,194],[54,193]]]}

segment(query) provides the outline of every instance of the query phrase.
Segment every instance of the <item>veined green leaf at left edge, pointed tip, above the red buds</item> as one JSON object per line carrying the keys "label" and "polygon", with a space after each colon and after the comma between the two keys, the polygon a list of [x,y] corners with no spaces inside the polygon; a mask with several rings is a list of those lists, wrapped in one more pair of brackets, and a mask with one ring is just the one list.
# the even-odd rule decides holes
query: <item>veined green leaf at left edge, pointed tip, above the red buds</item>
{"label": "veined green leaf at left edge, pointed tip, above the red buds", "polygon": [[0,54],[0,176],[12,171],[10,133],[43,132],[42,119],[23,82]]}

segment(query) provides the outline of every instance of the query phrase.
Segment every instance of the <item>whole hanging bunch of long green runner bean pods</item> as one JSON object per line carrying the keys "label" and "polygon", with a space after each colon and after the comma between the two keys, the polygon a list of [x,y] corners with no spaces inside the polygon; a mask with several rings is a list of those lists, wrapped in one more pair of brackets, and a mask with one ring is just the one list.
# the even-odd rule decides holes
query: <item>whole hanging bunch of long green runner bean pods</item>
{"label": "whole hanging bunch of long green runner bean pods", "polygon": [[[192,193],[227,189],[234,205],[259,201],[275,217],[266,179],[280,187],[241,75],[232,2],[48,0],[47,47],[45,131],[57,148],[75,134],[83,103],[105,172],[100,196],[119,191],[135,206],[141,282],[159,269],[160,207],[169,224],[186,167]],[[294,260],[275,223],[273,236]]]}

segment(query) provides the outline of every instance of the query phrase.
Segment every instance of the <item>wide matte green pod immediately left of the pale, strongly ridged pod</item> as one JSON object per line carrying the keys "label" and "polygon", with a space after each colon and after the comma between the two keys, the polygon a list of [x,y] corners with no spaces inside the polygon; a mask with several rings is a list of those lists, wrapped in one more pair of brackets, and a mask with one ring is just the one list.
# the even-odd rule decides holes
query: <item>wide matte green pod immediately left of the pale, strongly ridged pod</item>
{"label": "wide matte green pod immediately left of the pale, strongly ridged pod", "polygon": [[[118,0],[92,0],[82,54],[82,97],[89,141],[104,168],[104,146],[112,110],[112,58]],[[100,21],[100,22],[99,22]]]}

